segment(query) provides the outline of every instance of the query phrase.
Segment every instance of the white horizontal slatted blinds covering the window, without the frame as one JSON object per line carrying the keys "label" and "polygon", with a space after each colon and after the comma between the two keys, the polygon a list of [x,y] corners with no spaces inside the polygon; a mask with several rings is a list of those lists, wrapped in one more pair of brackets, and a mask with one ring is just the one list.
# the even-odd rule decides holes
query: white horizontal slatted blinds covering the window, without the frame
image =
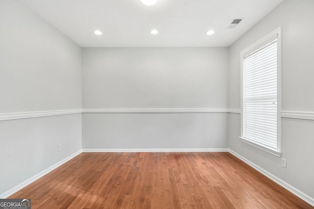
{"label": "white horizontal slatted blinds covering the window, without the frame", "polygon": [[243,58],[243,138],[277,150],[277,35]]}

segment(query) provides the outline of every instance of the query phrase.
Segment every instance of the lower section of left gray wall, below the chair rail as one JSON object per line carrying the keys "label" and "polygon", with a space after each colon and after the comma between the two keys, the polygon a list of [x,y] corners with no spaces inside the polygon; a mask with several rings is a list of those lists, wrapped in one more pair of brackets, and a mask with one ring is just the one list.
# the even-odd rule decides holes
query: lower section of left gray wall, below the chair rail
{"label": "lower section of left gray wall, below the chair rail", "polygon": [[0,121],[0,195],[80,150],[80,127],[81,114]]}

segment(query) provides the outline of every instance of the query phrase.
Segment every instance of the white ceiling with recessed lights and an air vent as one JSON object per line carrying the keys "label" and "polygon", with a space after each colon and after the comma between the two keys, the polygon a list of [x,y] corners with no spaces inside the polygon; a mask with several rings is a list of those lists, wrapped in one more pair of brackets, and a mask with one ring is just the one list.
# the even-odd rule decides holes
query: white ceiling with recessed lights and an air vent
{"label": "white ceiling with recessed lights and an air vent", "polygon": [[[183,47],[230,46],[283,0],[21,1],[82,47]],[[234,18],[243,21],[225,29]]]}

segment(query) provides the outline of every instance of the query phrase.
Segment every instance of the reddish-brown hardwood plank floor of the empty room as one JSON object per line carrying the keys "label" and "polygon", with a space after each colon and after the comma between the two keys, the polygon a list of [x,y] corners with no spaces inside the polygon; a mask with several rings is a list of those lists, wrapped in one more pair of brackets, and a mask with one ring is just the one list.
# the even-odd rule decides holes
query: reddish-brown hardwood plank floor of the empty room
{"label": "reddish-brown hardwood plank floor of the empty room", "polygon": [[32,209],[314,208],[230,153],[82,153],[9,198]]}

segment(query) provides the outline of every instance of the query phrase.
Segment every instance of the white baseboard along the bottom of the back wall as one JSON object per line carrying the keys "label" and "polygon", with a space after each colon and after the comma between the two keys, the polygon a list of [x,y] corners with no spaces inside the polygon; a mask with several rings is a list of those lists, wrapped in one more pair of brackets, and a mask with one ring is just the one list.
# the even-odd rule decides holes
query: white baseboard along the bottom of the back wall
{"label": "white baseboard along the bottom of the back wall", "polygon": [[82,149],[82,152],[229,152],[229,149]]}

